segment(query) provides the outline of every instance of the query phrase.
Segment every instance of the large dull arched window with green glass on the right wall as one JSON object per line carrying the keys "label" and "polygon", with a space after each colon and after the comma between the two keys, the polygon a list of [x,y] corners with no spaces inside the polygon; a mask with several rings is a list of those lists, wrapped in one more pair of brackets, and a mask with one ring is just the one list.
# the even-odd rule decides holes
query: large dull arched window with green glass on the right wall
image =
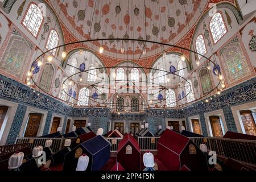
{"label": "large dull arched window with green glass on the right wall", "polygon": [[229,82],[241,80],[243,77],[250,75],[250,69],[240,43],[228,44],[223,50],[221,57],[222,61],[224,61]]}

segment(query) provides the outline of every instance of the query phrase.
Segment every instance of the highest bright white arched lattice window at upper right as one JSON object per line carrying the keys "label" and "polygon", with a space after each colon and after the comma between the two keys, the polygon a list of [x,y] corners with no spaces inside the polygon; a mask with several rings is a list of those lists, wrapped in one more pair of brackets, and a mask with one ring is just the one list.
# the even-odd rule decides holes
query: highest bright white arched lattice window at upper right
{"label": "highest bright white arched lattice window at upper right", "polygon": [[220,13],[216,13],[212,16],[210,20],[210,32],[212,33],[215,44],[226,34],[226,26]]}

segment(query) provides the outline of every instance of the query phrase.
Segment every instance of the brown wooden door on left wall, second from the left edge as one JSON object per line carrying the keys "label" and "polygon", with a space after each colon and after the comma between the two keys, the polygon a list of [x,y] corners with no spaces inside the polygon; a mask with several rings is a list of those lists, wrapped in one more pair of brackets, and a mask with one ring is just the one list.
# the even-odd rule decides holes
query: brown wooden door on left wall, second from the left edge
{"label": "brown wooden door on left wall, second from the left edge", "polygon": [[42,114],[30,113],[24,137],[36,137]]}

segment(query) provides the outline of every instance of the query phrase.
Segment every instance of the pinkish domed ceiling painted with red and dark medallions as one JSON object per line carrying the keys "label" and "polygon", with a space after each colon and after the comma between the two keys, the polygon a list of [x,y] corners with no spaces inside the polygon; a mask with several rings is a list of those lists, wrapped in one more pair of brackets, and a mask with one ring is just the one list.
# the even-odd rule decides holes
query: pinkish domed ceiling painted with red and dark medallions
{"label": "pinkish domed ceiling painted with red and dark medallions", "polygon": [[[200,18],[209,1],[204,0],[50,0],[65,26],[79,40],[124,38],[175,44]],[[61,9],[61,11],[60,11]],[[146,23],[145,23],[146,22]],[[142,41],[106,40],[86,43],[115,59],[133,59],[146,47],[153,56],[168,47]],[[121,48],[125,52],[121,52]],[[136,58],[135,58],[136,59]]]}

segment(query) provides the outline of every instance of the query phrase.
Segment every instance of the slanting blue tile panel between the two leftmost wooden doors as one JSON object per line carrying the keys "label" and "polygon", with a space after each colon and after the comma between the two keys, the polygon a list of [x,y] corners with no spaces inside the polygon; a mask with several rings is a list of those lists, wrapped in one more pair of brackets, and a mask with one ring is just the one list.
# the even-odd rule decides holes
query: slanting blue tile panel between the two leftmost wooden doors
{"label": "slanting blue tile panel between the two leftmost wooden doors", "polygon": [[18,105],[18,108],[16,110],[16,113],[13,119],[13,123],[11,125],[11,129],[9,131],[9,135],[6,140],[6,144],[15,143],[16,137],[18,137],[19,135],[19,131],[22,126],[22,122],[23,122],[26,110],[27,110],[27,106],[24,106],[21,104]]}

